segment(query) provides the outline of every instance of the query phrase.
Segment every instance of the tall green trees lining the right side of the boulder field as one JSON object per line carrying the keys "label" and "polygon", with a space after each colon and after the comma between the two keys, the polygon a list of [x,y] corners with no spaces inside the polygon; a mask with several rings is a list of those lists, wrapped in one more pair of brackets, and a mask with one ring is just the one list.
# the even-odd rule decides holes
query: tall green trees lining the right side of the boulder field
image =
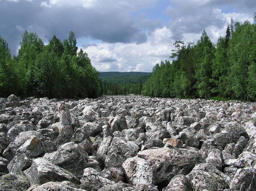
{"label": "tall green trees lining the right side of the boulder field", "polygon": [[[254,13],[254,23],[256,13]],[[227,26],[215,46],[203,31],[196,44],[175,41],[168,60],[156,64],[143,84],[152,97],[256,100],[256,25]]]}

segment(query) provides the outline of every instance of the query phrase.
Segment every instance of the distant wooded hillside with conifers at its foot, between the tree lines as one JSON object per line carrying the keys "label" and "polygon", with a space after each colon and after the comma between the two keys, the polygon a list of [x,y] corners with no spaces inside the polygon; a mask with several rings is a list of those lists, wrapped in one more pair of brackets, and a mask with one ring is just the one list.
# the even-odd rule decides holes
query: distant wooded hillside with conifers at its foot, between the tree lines
{"label": "distant wooded hillside with conifers at its foot, between the tree lines", "polygon": [[141,94],[151,72],[100,72],[103,95]]}

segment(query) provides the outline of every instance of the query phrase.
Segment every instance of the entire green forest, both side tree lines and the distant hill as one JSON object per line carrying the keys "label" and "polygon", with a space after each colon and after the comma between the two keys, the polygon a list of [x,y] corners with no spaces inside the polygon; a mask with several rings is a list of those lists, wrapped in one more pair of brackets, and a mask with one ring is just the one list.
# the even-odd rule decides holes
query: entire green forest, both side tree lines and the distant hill
{"label": "entire green forest, both side tree lines and the distant hill", "polygon": [[[36,33],[22,35],[17,56],[0,36],[0,97],[94,98],[142,94],[180,99],[256,100],[256,14],[254,23],[231,19],[215,46],[203,31],[197,43],[175,41],[170,58],[151,73],[100,75],[87,53],[77,51],[75,33],[48,44]],[[150,75],[151,74],[151,75]],[[100,77],[99,77],[100,75]],[[150,75],[150,76],[149,76]]]}

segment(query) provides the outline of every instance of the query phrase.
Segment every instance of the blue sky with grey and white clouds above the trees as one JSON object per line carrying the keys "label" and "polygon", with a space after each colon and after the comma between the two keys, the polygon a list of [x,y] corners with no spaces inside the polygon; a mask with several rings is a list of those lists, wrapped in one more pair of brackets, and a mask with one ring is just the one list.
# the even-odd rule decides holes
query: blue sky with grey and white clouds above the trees
{"label": "blue sky with grey and white clouds above the trees", "polygon": [[97,70],[151,72],[175,40],[205,30],[216,44],[231,17],[252,22],[255,11],[255,0],[0,0],[0,35],[17,55],[25,29],[44,43],[72,30]]}

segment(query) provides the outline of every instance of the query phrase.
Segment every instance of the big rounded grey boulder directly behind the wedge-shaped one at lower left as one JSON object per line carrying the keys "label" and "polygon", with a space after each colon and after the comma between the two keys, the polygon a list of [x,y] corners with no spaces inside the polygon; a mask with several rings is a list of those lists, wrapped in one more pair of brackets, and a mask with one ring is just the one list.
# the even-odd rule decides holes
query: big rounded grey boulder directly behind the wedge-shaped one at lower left
{"label": "big rounded grey boulder directly behind the wedge-shaped one at lower left", "polygon": [[43,159],[68,170],[80,179],[87,167],[88,155],[80,145],[69,142],[61,145],[57,151],[45,153]]}

